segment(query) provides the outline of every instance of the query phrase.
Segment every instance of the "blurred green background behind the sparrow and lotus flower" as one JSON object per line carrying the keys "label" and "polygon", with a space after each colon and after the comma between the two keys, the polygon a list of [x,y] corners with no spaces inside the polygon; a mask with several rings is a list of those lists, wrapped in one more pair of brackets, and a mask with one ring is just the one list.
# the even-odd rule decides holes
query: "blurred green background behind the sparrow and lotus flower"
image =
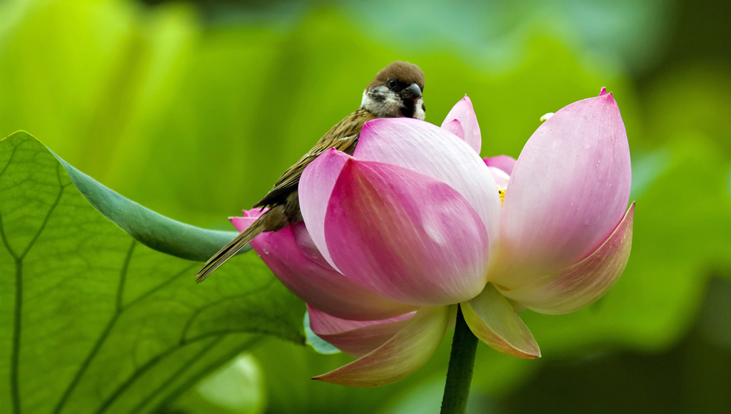
{"label": "blurred green background behind the sparrow and lotus flower", "polygon": [[[482,156],[518,156],[541,115],[607,86],[632,150],[629,264],[586,310],[521,314],[542,359],[480,345],[470,410],[728,412],[729,15],[689,0],[4,1],[0,134],[229,229],[390,61],[424,70],[432,123],[469,94]],[[449,342],[416,375],[357,389],[309,380],[345,356],[265,340],[168,410],[436,412]]]}

